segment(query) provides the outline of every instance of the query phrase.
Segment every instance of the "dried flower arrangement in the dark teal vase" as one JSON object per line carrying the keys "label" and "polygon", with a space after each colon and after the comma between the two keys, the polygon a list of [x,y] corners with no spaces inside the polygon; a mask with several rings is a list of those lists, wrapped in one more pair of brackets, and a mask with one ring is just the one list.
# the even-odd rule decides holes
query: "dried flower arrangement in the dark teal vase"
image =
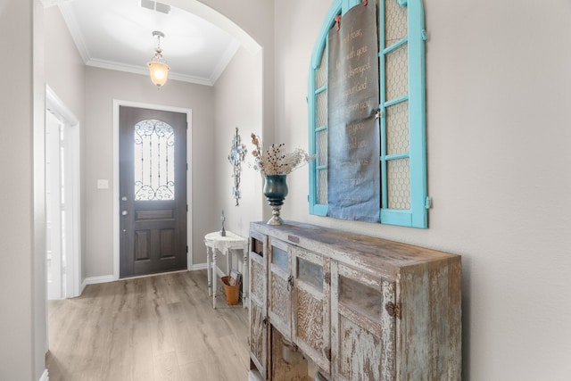
{"label": "dried flower arrangement in the dark teal vase", "polygon": [[260,170],[261,175],[287,175],[292,170],[302,167],[310,161],[310,155],[302,148],[295,148],[291,153],[284,152],[284,144],[270,145],[264,151],[261,139],[252,132],[252,145],[256,148],[252,151],[254,170]]}

